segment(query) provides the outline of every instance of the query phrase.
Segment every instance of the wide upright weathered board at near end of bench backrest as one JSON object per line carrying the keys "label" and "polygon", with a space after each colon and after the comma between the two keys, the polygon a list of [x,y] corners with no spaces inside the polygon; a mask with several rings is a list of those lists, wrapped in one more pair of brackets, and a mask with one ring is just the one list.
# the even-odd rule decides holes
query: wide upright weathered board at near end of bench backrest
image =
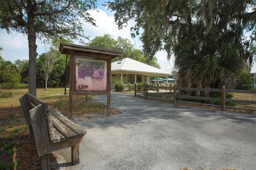
{"label": "wide upright weathered board at near end of bench backrest", "polygon": [[45,111],[42,104],[36,106],[29,111],[31,118],[31,125],[34,132],[36,150],[38,156],[51,154],[51,146],[47,126],[45,122]]}

